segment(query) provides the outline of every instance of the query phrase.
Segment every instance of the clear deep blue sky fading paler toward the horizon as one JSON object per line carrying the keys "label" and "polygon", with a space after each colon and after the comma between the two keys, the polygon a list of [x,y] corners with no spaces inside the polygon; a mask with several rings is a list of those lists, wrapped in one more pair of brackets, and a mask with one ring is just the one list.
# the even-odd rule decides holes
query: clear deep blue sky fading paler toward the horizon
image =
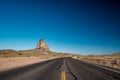
{"label": "clear deep blue sky fading paler toward the horizon", "polygon": [[0,49],[120,52],[119,0],[0,0]]}

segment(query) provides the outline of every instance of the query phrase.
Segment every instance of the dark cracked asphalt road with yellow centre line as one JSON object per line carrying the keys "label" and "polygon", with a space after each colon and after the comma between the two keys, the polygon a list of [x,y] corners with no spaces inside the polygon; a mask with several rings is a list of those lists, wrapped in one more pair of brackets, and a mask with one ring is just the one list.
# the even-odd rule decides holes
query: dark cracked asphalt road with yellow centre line
{"label": "dark cracked asphalt road with yellow centre line", "polygon": [[0,80],[120,80],[120,72],[73,58],[57,58],[0,72]]}

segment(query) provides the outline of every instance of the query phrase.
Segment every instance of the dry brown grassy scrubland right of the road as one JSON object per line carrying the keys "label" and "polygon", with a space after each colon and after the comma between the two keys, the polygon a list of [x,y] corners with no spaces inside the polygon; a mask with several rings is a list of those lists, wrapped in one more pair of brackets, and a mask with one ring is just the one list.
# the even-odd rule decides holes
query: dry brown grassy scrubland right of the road
{"label": "dry brown grassy scrubland right of the road", "polygon": [[81,56],[79,59],[89,61],[95,64],[108,66],[115,69],[120,69],[120,53],[112,54],[112,55],[89,55],[89,56]]}

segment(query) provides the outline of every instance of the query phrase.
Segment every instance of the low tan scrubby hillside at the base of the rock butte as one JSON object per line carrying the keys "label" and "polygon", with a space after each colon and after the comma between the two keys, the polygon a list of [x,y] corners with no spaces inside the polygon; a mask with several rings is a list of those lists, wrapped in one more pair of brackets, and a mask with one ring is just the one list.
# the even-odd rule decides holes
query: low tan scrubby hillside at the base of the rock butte
{"label": "low tan scrubby hillside at the base of the rock butte", "polygon": [[42,51],[39,49],[30,50],[0,50],[0,57],[43,57],[43,58],[53,58],[53,57],[72,57],[72,54],[68,53],[57,53],[51,51]]}

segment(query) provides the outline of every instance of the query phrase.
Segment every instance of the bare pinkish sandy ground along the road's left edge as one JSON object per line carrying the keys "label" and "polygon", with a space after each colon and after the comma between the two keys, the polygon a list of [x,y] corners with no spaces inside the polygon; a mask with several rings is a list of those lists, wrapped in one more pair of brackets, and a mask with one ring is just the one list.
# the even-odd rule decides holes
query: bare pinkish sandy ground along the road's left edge
{"label": "bare pinkish sandy ground along the road's left edge", "polygon": [[13,57],[13,58],[0,58],[0,71],[9,70],[16,67],[21,67],[41,61],[40,57]]}

